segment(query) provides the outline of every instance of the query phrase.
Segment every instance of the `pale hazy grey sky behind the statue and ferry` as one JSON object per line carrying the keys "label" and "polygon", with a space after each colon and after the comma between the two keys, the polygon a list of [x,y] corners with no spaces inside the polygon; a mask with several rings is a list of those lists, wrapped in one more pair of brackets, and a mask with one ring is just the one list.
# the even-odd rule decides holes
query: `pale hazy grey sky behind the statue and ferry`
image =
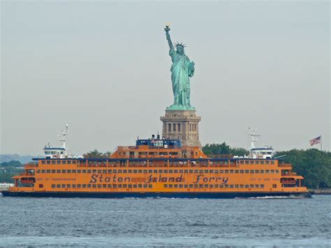
{"label": "pale hazy grey sky behind the statue and ferry", "polygon": [[[330,149],[329,1],[1,1],[1,153],[70,154],[158,130],[172,104],[163,31],[196,63],[200,141]],[[319,146],[316,146],[319,148]]]}

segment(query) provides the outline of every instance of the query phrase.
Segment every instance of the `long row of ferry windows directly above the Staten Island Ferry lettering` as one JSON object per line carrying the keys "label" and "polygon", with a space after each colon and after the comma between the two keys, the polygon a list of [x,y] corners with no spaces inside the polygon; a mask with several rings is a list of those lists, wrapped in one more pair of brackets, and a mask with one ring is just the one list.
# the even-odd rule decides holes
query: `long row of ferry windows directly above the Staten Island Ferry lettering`
{"label": "long row of ferry windows directly above the Staten Island Ferry lettering", "polygon": [[274,174],[279,173],[279,170],[37,170],[37,173],[225,173],[225,174]]}

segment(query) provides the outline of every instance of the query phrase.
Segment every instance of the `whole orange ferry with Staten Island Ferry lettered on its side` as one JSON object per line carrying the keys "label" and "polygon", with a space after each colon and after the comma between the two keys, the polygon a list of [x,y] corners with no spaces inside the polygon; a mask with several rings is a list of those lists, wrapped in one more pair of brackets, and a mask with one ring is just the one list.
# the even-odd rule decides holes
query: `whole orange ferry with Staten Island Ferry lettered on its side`
{"label": "whole orange ferry with Staten Island Ferry lettered on its side", "polygon": [[[250,156],[209,158],[200,147],[157,136],[117,147],[107,159],[70,157],[66,133],[61,147],[45,146],[45,158],[24,166],[3,196],[90,198],[310,197],[292,166],[272,159],[272,148]],[[254,136],[254,135],[253,135]],[[256,140],[252,140],[256,141]]]}

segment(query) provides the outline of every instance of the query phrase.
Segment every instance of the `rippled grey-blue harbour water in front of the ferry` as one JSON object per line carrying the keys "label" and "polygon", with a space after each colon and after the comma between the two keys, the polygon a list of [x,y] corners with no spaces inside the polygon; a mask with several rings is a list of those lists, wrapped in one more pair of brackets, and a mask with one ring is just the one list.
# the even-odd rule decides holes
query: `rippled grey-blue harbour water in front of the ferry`
{"label": "rippled grey-blue harbour water in front of the ferry", "polygon": [[89,199],[0,196],[0,247],[331,247],[331,196]]}

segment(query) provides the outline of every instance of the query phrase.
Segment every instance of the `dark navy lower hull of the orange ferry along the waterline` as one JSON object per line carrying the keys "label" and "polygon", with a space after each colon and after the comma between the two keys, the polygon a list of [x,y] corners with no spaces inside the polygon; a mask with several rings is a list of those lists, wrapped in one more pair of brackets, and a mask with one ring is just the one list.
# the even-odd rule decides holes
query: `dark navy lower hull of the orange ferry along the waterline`
{"label": "dark navy lower hull of the orange ferry along the waterline", "polygon": [[1,191],[3,196],[56,197],[56,198],[256,198],[288,196],[311,198],[310,193],[299,192],[12,192]]}

